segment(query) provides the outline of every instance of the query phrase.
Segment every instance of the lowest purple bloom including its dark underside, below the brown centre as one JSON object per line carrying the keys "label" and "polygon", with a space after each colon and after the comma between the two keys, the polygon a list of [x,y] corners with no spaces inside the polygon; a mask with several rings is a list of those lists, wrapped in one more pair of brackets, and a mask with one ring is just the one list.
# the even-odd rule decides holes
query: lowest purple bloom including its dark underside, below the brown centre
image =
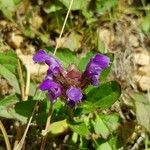
{"label": "lowest purple bloom including its dark underside, below the brown centre", "polygon": [[74,107],[78,102],[82,100],[83,94],[79,88],[71,86],[66,91],[68,97],[68,103],[71,107]]}

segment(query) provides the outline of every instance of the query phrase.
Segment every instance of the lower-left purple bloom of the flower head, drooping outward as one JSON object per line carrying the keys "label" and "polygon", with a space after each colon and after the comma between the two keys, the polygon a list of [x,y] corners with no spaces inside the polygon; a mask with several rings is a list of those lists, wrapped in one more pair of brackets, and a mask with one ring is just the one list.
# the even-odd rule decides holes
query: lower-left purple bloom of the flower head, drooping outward
{"label": "lower-left purple bloom of the flower head, drooping outward", "polygon": [[53,80],[45,79],[39,86],[42,91],[48,91],[48,98],[54,102],[62,94],[61,85]]}

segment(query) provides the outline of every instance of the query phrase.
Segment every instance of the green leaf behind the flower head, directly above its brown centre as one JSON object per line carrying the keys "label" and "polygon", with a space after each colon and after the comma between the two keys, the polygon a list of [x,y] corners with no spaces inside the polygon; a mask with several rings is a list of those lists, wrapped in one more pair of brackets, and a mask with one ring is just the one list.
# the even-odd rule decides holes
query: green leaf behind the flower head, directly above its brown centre
{"label": "green leaf behind the flower head, directly above its brown centre", "polygon": [[69,64],[77,64],[78,59],[74,52],[70,51],[67,48],[59,49],[56,53],[56,57],[62,61],[64,67],[68,67]]}

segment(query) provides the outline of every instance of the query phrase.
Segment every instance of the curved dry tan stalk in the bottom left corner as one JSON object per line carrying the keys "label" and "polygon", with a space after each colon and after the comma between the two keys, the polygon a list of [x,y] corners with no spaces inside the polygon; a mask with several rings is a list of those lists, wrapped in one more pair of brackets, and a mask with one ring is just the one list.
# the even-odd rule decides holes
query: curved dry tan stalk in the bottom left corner
{"label": "curved dry tan stalk in the bottom left corner", "polygon": [[9,138],[8,138],[7,132],[6,132],[5,127],[4,127],[3,123],[1,122],[1,120],[0,120],[0,129],[1,129],[2,134],[4,136],[7,150],[11,150]]}

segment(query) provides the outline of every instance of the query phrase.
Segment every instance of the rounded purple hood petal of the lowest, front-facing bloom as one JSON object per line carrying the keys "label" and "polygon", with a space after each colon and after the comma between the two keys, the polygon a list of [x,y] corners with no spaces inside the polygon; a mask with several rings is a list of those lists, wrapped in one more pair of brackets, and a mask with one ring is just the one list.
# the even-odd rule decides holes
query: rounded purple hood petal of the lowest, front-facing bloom
{"label": "rounded purple hood petal of the lowest, front-facing bloom", "polygon": [[69,100],[73,100],[75,103],[80,101],[83,97],[83,94],[81,93],[81,90],[79,88],[75,88],[73,86],[70,87],[66,91],[66,95],[67,95]]}

